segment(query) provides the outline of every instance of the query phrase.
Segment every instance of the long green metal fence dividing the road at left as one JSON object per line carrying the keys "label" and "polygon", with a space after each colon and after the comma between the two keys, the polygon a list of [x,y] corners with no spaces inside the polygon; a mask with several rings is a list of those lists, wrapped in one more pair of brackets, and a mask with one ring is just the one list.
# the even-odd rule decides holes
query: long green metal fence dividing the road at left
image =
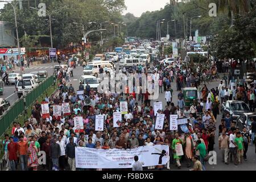
{"label": "long green metal fence dividing the road at left", "polygon": [[[53,76],[44,80],[40,85],[38,85],[34,90],[29,92],[26,98],[26,108],[29,107],[35,100],[42,95],[48,88],[53,84]],[[0,136],[2,136],[6,130],[9,128],[11,123],[14,122],[22,112],[25,110],[24,100],[21,97],[18,101],[14,103],[0,118]]]}

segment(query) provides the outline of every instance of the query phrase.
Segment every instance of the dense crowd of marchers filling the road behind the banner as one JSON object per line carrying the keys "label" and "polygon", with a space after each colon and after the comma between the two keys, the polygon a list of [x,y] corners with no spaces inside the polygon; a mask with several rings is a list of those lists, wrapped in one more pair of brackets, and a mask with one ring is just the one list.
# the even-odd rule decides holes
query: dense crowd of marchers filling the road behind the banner
{"label": "dense crowd of marchers filling the road behind the banner", "polygon": [[[67,86],[65,71],[60,69],[57,74],[59,95],[44,98],[44,102],[48,102],[49,105],[49,117],[42,117],[42,105],[36,101],[32,106],[31,117],[24,125],[21,126],[20,123],[14,122],[12,135],[5,135],[3,145],[7,168],[16,170],[20,164],[22,170],[82,170],[76,168],[75,165],[76,146],[126,150],[139,146],[164,144],[170,147],[168,163],[164,166],[150,166],[145,169],[171,169],[172,164],[181,168],[181,164],[184,164],[188,168],[193,165],[191,170],[205,170],[205,163],[211,151],[214,150],[214,138],[216,137],[223,162],[229,164],[229,159],[236,165],[242,163],[243,159],[247,159],[246,151],[249,144],[254,142],[254,138],[250,139],[246,128],[239,131],[229,114],[226,114],[221,119],[221,124],[216,126],[217,114],[220,114],[222,102],[220,89],[224,89],[227,85],[221,82],[220,88],[208,90],[204,85],[201,89],[192,70],[182,68],[180,65],[181,63],[178,62],[175,67],[166,67],[163,64],[154,63],[154,67],[143,68],[143,72],[154,80],[152,82],[158,82],[159,93],[165,92],[166,107],[157,111],[165,114],[162,130],[156,130],[154,127],[155,115],[150,93],[101,94],[90,88],[88,84],[80,83],[79,90],[84,90],[84,94],[77,95],[72,84]],[[177,90],[180,90],[177,96],[174,96],[172,89],[175,81]],[[199,102],[194,102],[189,107],[185,106],[181,92],[181,88],[185,86],[200,88],[198,89]],[[238,92],[245,92],[242,85],[236,88]],[[250,88],[247,89],[250,90]],[[255,94],[255,90],[251,90]],[[173,102],[174,97],[178,98],[177,103]],[[236,97],[236,99],[239,98]],[[127,102],[128,112],[122,115],[121,125],[114,127],[113,113],[120,111],[121,101]],[[53,105],[61,105],[64,102],[69,103],[70,115],[62,113],[61,117],[55,117]],[[179,125],[178,130],[170,130],[171,114],[177,114],[179,118],[187,118],[187,124]],[[104,131],[95,131],[96,115],[104,116]],[[84,128],[82,130],[77,131],[74,128],[73,118],[76,116],[83,118]],[[253,133],[256,132],[256,121],[252,121],[251,129]],[[183,155],[176,154],[177,144],[182,145]],[[46,153],[46,164],[39,163],[40,151]]]}

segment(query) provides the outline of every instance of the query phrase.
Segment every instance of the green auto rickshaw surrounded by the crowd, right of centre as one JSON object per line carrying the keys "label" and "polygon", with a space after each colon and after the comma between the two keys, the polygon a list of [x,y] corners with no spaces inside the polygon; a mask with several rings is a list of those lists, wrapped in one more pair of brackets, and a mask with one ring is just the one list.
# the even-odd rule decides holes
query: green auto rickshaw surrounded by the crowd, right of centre
{"label": "green auto rickshaw surrounded by the crowd, right of centre", "polygon": [[183,90],[185,106],[192,106],[194,102],[197,103],[197,89],[195,87],[187,87]]}

